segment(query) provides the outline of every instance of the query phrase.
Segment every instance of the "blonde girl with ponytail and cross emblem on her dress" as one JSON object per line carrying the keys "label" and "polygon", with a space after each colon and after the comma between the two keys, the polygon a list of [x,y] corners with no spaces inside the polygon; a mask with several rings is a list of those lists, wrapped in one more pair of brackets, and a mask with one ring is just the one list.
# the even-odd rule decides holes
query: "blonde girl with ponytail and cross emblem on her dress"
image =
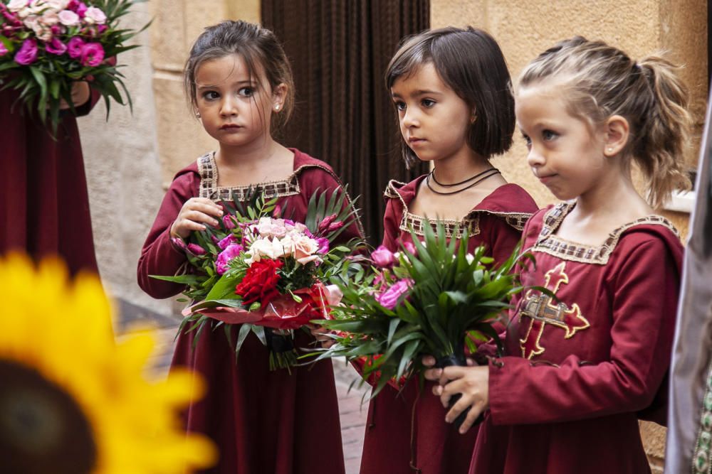
{"label": "blonde girl with ponytail and cross emblem on her dress", "polygon": [[[508,355],[426,371],[446,416],[488,409],[471,473],[649,473],[638,419],[664,424],[683,248],[654,209],[686,185],[688,95],[676,67],[572,38],[522,72],[516,114],[534,175],[564,201],[535,214],[535,266],[513,298]],[[647,178],[648,201],[632,184]],[[432,363],[433,360],[426,360]]]}

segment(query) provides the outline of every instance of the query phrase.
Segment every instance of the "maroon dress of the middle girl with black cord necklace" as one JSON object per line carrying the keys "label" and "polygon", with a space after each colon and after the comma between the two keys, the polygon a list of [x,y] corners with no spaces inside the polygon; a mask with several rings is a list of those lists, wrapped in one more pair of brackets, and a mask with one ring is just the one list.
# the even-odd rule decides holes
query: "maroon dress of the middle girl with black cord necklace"
{"label": "maroon dress of the middle girl with black cord necklace", "polygon": [[[391,181],[386,188],[383,245],[392,252],[410,241],[409,226],[419,235],[428,220],[409,212],[424,176],[408,184]],[[449,236],[459,237],[455,227],[467,228],[469,250],[484,244],[497,262],[506,260],[519,242],[528,218],[537,210],[534,200],[515,184],[502,185],[476,205],[461,222],[446,221]],[[477,436],[477,429],[461,435],[445,423],[446,410],[431,394],[426,382],[419,394],[412,379],[399,394],[384,387],[370,402],[361,458],[362,474],[464,474]]]}

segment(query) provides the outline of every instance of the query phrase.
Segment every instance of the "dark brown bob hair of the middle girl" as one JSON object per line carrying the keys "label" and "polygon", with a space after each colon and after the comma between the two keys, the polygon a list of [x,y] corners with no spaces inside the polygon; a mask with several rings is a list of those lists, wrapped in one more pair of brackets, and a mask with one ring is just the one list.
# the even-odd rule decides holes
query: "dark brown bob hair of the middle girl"
{"label": "dark brown bob hair of the middle girl", "polygon": [[[431,63],[441,80],[475,109],[468,146],[483,156],[504,153],[512,146],[514,97],[507,63],[497,42],[478,28],[439,28],[404,38],[386,70],[390,90],[399,77],[408,77]],[[407,165],[417,155],[401,139]]]}

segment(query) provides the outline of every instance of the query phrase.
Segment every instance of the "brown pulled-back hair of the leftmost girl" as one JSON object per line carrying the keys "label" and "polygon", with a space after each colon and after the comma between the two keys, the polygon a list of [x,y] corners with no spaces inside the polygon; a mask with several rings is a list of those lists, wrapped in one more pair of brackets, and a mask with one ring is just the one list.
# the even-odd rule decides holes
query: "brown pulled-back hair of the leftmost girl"
{"label": "brown pulled-back hair of the leftmost girl", "polygon": [[278,135],[294,109],[292,68],[282,45],[272,31],[246,21],[223,21],[205,28],[190,49],[183,68],[184,90],[192,107],[197,108],[195,75],[205,61],[238,54],[244,59],[250,77],[263,72],[270,87],[287,86],[282,111],[272,114],[271,133]]}

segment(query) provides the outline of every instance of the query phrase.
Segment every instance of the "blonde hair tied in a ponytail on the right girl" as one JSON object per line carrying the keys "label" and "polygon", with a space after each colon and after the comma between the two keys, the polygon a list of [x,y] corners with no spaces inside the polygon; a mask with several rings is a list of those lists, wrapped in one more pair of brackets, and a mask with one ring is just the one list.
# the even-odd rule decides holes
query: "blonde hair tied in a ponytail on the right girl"
{"label": "blonde hair tied in a ponytail on the right girl", "polygon": [[689,144],[689,95],[679,66],[660,55],[638,62],[602,41],[576,36],[557,43],[529,63],[518,87],[556,87],[568,112],[592,126],[613,115],[627,119],[624,165],[638,164],[648,180],[649,203],[658,208],[677,188],[689,186],[684,151]]}

